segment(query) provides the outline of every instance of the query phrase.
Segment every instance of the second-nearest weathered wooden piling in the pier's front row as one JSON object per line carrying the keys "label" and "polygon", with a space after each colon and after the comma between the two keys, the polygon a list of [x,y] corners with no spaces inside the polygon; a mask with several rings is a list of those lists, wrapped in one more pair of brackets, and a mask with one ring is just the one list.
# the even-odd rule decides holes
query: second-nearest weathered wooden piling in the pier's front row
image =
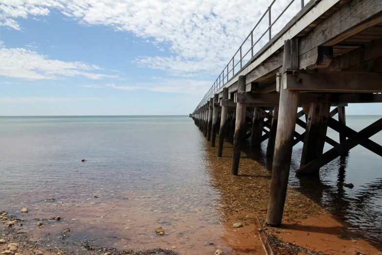
{"label": "second-nearest weathered wooden piling in the pier's front row", "polygon": [[[238,93],[245,91],[245,76],[239,76],[238,81]],[[236,122],[235,122],[235,134],[233,139],[233,156],[232,156],[232,166],[231,174],[238,175],[239,172],[239,162],[241,154],[241,139],[244,134],[245,126],[245,115],[246,115],[246,103],[237,103],[236,104]]]}

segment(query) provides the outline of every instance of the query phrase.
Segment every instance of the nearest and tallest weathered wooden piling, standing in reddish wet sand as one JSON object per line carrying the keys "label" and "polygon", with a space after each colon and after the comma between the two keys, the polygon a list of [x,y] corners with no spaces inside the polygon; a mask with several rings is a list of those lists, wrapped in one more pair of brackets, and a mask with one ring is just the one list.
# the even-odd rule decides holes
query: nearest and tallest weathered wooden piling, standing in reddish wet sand
{"label": "nearest and tallest weathered wooden piling, standing in reddish wet sand", "polygon": [[275,155],[266,224],[280,226],[288,186],[294,131],[296,127],[299,91],[286,90],[286,69],[299,68],[298,39],[284,42],[282,84],[280,88],[279,121],[277,124]]}

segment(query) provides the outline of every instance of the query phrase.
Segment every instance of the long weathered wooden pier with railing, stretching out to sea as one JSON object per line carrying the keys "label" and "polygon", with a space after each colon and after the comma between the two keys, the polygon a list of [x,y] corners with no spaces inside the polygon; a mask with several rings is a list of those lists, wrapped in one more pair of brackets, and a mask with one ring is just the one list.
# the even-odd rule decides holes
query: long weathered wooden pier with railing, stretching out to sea
{"label": "long weathered wooden pier with railing, stretching out to sea", "polygon": [[[269,42],[254,54],[253,29],[249,51],[242,54],[240,46],[190,117],[211,146],[218,135],[218,157],[224,139],[233,140],[232,175],[240,174],[244,143],[260,147],[268,139],[273,167],[266,223],[279,226],[297,143],[303,142],[297,174],[317,174],[357,145],[382,156],[381,145],[369,139],[382,130],[382,119],[356,132],[345,118],[349,103],[382,103],[382,1],[302,1],[301,11],[274,37],[272,4]],[[298,133],[296,124],[305,132]],[[326,136],[328,127],[340,143]],[[323,153],[325,143],[333,148]]]}

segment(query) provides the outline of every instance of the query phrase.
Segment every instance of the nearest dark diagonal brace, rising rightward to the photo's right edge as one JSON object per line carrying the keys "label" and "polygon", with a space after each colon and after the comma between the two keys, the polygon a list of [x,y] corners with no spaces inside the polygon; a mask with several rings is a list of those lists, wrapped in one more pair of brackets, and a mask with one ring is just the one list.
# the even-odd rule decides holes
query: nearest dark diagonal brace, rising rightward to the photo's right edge
{"label": "nearest dark diagonal brace, rising rightward to the photo's right edge", "polygon": [[350,137],[343,143],[339,144],[338,146],[332,149],[329,149],[328,151],[323,153],[322,156],[316,158],[315,160],[309,162],[305,166],[298,169],[296,173],[307,174],[307,173],[313,173],[317,171],[322,166],[326,165],[327,163],[334,160],[335,158],[341,156],[346,151],[353,149],[354,147],[366,141],[368,138],[380,132],[381,130],[382,130],[382,118],[374,122],[370,126],[363,128],[360,132],[353,135],[352,137]]}

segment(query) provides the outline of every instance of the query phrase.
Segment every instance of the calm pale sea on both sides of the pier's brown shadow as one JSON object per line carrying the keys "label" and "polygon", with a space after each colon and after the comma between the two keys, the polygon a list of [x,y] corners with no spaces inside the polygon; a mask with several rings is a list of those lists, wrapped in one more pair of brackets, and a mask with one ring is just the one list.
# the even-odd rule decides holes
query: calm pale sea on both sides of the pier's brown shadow
{"label": "calm pale sea on both sides of the pier's brown shadow", "polygon": [[[379,118],[347,116],[346,122],[359,131]],[[328,136],[339,140],[330,128]],[[381,133],[371,139],[382,144]],[[70,238],[97,245],[231,251],[213,174],[223,169],[211,163],[208,148],[188,116],[0,117],[0,211],[28,207],[31,218],[63,218],[37,230],[41,236],[69,226]],[[252,171],[269,172],[265,149],[266,142]],[[293,171],[301,150],[301,143],[294,148],[289,185],[370,242],[382,240],[382,158],[357,146],[323,167],[319,179],[306,180]],[[353,189],[343,186],[350,182]],[[158,226],[165,237],[155,234]]]}

